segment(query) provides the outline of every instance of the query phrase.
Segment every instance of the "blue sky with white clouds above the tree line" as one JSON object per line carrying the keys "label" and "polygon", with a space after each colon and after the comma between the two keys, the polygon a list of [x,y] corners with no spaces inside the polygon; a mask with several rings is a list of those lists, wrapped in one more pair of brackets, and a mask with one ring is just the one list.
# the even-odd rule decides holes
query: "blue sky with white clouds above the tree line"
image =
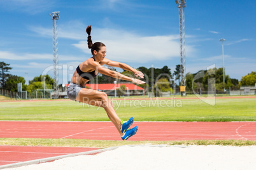
{"label": "blue sky with white clouds above the tree line", "polygon": [[[185,8],[187,72],[215,64],[231,78],[256,71],[256,1],[197,0]],[[26,83],[40,74],[53,77],[52,20],[60,11],[59,83],[67,83],[77,65],[91,56],[92,41],[106,44],[107,58],[134,68],[180,64],[178,8],[174,0],[0,0],[0,62]],[[121,70],[119,70],[121,71]]]}

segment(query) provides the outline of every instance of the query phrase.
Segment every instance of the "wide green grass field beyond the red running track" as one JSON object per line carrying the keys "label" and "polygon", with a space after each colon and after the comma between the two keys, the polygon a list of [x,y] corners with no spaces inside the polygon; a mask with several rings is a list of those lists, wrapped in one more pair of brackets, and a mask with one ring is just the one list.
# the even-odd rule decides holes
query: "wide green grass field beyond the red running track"
{"label": "wide green grass field beyond the red running track", "polygon": [[[256,98],[113,100],[118,116],[136,121],[256,121]],[[110,121],[103,108],[71,100],[0,102],[2,121]]]}

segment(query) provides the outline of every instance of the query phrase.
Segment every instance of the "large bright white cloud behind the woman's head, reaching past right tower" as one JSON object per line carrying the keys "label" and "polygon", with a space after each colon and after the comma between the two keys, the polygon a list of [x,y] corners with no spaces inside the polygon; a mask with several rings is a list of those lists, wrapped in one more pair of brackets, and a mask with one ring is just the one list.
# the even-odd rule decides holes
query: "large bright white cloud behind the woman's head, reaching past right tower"
{"label": "large bright white cloud behind the woman's head, reaching past right tower", "polygon": [[[146,63],[156,60],[171,60],[180,57],[180,41],[178,35],[169,36],[139,36],[132,32],[114,29],[94,29],[92,41],[106,44],[110,60],[122,62]],[[90,53],[87,41],[73,44],[76,48]],[[193,53],[192,46],[186,46],[186,53]]]}

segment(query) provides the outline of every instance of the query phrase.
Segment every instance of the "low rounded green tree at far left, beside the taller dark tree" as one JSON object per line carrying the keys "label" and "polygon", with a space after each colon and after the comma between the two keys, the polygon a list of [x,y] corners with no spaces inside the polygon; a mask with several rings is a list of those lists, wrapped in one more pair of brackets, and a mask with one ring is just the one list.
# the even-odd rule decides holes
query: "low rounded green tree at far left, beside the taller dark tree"
{"label": "low rounded green tree at far left, beside the taller dark tree", "polygon": [[22,91],[25,91],[27,89],[27,85],[25,85],[25,79],[24,77],[19,77],[17,75],[10,75],[8,79],[6,79],[6,89],[9,91],[18,91],[17,84],[22,82]]}

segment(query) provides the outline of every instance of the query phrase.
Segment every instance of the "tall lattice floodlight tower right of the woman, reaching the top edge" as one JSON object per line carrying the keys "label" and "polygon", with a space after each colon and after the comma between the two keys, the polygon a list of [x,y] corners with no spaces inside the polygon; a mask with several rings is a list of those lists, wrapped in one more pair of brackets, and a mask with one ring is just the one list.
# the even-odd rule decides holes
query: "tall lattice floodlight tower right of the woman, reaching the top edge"
{"label": "tall lattice floodlight tower right of the woman, reaching the top edge", "polygon": [[[181,77],[181,86],[185,86],[185,95],[186,95],[186,57],[185,57],[185,15],[184,8],[187,6],[186,0],[176,0],[179,8],[179,18],[180,18],[180,77]],[[183,93],[181,92],[181,96]]]}

